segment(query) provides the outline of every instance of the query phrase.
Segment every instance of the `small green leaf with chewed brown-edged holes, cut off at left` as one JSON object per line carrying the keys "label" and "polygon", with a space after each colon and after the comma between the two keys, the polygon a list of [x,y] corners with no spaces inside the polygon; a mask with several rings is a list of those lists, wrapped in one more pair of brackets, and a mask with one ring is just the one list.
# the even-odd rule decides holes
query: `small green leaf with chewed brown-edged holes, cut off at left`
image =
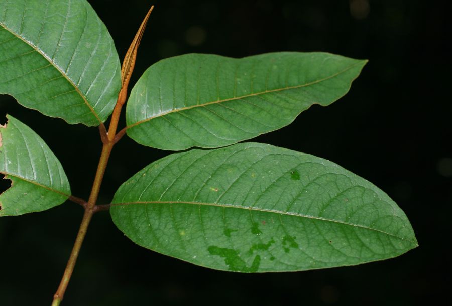
{"label": "small green leaf with chewed brown-edged holes, cut off at left", "polygon": [[71,190],[58,159],[31,128],[8,119],[0,126],[0,173],[12,186],[0,195],[0,216],[42,211],[66,201]]}

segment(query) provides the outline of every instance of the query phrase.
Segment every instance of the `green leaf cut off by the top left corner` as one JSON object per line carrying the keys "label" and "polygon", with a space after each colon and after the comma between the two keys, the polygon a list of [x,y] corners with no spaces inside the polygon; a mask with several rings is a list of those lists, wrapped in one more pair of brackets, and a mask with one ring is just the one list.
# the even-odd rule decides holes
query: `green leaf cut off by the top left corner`
{"label": "green leaf cut off by the top left corner", "polygon": [[115,106],[120,62],[85,0],[0,0],[0,93],[70,124],[96,126]]}

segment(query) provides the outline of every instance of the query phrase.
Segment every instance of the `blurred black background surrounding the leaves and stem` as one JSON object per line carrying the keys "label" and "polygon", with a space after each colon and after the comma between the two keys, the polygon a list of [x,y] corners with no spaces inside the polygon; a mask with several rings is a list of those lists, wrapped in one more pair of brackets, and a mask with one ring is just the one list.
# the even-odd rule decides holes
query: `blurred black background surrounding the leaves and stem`
{"label": "blurred black background surrounding the leaves and stem", "polygon": [[[94,216],[63,305],[447,305],[450,298],[452,139],[450,2],[90,1],[122,58],[151,4],[135,77],[159,59],[189,53],[243,57],[327,51],[370,60],[348,95],[313,106],[293,124],[254,141],[307,152],[370,180],[411,220],[419,247],[386,261],[325,270],[236,274],[141,248]],[[1,73],[1,72],[0,72]],[[55,152],[74,195],[87,198],[100,141],[0,96],[10,113]],[[124,124],[124,121],[122,122]],[[99,202],[168,152],[124,137]],[[2,188],[6,189],[7,180]],[[0,220],[0,304],[49,305],[82,209],[74,203]]]}

